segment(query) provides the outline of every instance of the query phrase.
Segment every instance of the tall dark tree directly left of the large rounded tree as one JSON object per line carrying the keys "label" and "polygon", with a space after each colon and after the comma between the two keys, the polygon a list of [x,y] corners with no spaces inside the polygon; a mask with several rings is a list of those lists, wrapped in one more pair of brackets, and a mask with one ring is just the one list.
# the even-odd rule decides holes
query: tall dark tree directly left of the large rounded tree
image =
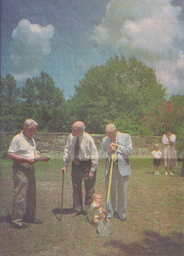
{"label": "tall dark tree directly left of the large rounded tree", "polygon": [[39,78],[32,80],[36,90],[37,119],[42,130],[63,131],[65,122],[64,93],[55,86],[54,80],[41,72]]}

